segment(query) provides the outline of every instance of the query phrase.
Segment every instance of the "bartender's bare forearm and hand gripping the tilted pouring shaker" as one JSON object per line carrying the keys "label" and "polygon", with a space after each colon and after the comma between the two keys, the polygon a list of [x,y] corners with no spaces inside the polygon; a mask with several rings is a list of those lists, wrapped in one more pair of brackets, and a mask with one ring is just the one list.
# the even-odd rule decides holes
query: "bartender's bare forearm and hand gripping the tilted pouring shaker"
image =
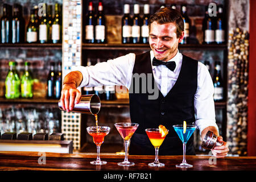
{"label": "bartender's bare forearm and hand gripping the tilted pouring shaker", "polygon": [[76,88],[80,85],[81,81],[82,73],[79,71],[70,72],[65,76],[60,97],[60,103],[64,110],[69,112],[73,110],[75,104],[79,104],[81,92]]}

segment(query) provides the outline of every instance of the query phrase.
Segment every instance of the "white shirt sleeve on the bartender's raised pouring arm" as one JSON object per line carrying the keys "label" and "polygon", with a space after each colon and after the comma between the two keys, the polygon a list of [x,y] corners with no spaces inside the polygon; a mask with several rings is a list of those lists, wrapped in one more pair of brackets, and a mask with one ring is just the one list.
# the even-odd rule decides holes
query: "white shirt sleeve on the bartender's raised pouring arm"
{"label": "white shirt sleeve on the bartender's raised pouring arm", "polygon": [[129,53],[89,67],[77,66],[72,71],[82,73],[82,82],[79,87],[123,85],[129,88],[134,61],[135,54]]}

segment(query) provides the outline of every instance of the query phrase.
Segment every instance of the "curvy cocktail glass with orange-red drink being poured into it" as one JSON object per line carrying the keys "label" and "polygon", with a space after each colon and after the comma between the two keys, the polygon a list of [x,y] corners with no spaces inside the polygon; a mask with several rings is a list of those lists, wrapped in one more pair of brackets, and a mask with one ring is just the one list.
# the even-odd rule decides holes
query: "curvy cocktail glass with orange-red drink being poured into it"
{"label": "curvy cocktail glass with orange-red drink being poured into it", "polygon": [[89,126],[86,128],[89,135],[93,137],[93,142],[97,146],[97,159],[90,162],[94,165],[106,164],[106,161],[100,159],[100,148],[101,144],[104,142],[104,137],[109,134],[110,127],[108,126]]}

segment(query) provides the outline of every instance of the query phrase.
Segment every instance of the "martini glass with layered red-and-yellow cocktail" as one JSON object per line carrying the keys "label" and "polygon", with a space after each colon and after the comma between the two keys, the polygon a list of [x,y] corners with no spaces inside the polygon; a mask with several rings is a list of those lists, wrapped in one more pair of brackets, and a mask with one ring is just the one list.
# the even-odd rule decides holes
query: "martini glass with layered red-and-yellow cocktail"
{"label": "martini glass with layered red-and-yellow cocktail", "polygon": [[146,129],[145,131],[147,133],[147,137],[150,139],[150,142],[155,147],[155,161],[152,163],[149,163],[148,166],[164,167],[163,163],[159,163],[158,150],[161,144],[163,143],[163,140],[166,138],[166,136],[162,137],[162,134],[159,132],[159,129]]}

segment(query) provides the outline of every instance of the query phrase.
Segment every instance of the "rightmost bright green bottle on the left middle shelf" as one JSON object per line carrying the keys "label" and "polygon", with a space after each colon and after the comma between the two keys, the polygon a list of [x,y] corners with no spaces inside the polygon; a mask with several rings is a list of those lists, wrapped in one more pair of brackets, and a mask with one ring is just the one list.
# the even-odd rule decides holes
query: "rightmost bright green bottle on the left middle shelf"
{"label": "rightmost bright green bottle on the left middle shelf", "polygon": [[23,73],[22,79],[21,79],[21,96],[23,98],[32,98],[33,97],[33,79],[32,74],[28,70],[28,67],[30,66],[30,63],[27,61],[25,62],[25,71]]}

